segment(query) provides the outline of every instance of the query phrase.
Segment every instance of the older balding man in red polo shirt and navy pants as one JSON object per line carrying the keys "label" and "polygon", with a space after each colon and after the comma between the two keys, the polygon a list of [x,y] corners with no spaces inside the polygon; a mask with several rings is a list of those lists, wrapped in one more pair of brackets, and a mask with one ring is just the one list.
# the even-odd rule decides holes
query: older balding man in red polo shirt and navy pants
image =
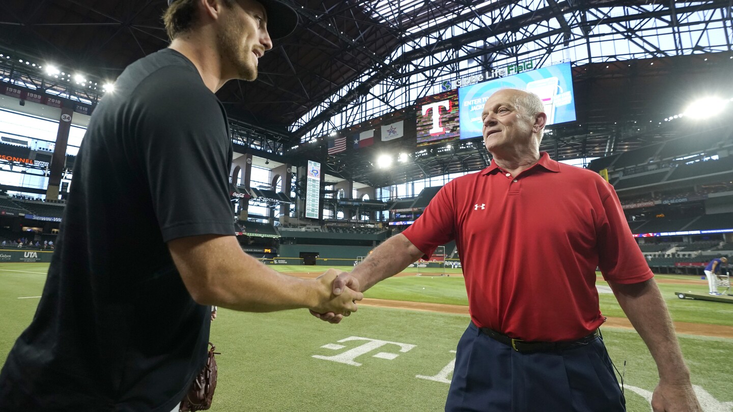
{"label": "older balding man in red polo shirt and navy pants", "polygon": [[539,152],[542,111],[531,93],[494,93],[482,113],[491,165],[445,185],[415,224],[342,273],[334,292],[367,290],[455,240],[471,324],[458,343],[446,411],[625,411],[598,331],[598,267],[657,363],[654,411],[700,411],[614,188]]}

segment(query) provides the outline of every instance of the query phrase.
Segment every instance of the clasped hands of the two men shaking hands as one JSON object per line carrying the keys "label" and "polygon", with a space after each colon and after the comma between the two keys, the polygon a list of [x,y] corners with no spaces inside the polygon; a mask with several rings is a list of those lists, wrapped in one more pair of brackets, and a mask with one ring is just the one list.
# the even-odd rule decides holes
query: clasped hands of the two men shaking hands
{"label": "clasped hands of the two men shaking hands", "polygon": [[315,279],[317,282],[318,300],[310,308],[313,316],[330,323],[339,323],[351,312],[356,312],[356,301],[361,301],[364,294],[359,292],[359,283],[347,272],[328,269]]}

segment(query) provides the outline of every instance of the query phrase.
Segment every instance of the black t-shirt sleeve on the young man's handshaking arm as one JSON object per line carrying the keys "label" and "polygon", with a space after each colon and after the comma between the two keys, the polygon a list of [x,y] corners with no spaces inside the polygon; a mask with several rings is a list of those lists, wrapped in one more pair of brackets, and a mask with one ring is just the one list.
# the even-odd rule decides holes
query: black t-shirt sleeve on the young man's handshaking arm
{"label": "black t-shirt sleeve on the young man's handshaking arm", "polygon": [[165,71],[158,77],[180,76],[181,81],[177,87],[156,89],[156,76],[151,76],[141,93],[136,139],[163,240],[234,235],[229,199],[232,144],[223,109],[216,96],[195,83],[198,79]]}

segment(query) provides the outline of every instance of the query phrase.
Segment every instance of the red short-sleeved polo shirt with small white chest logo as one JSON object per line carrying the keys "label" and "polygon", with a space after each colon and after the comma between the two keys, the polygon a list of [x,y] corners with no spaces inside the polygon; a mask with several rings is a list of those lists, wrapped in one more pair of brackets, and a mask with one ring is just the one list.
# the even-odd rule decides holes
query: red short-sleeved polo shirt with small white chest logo
{"label": "red short-sleeved polo shirt with small white chest logo", "polygon": [[402,234],[426,259],[455,239],[471,320],[516,339],[574,340],[603,323],[596,267],[618,283],[653,276],[614,188],[546,152],[515,177],[492,162],[452,180]]}

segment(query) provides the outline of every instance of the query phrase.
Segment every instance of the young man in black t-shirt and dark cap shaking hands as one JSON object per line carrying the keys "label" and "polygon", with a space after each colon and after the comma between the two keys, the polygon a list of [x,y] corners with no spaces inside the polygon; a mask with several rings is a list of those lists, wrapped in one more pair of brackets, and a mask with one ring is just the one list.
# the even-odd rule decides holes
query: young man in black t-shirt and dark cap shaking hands
{"label": "young man in black t-shirt and dark cap shaking hands", "polygon": [[331,294],[336,271],[285,276],[235,238],[214,92],[254,80],[297,15],[272,0],[169,4],[171,46],[130,65],[89,122],[43,297],[0,372],[1,411],[169,412],[204,364],[211,305],[349,314],[361,300]]}

